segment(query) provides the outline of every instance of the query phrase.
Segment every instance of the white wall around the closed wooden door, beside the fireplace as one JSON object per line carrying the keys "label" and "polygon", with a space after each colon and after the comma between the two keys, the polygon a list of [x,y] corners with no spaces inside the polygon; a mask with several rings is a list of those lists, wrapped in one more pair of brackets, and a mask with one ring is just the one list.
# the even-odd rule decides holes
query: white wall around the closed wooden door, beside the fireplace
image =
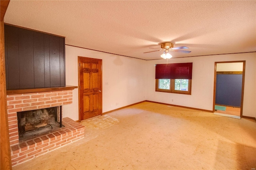
{"label": "white wall around the closed wooden door, beside the fireplace", "polygon": [[[78,86],[78,56],[102,59],[102,112],[146,100],[146,61],[66,45],[66,85]],[[118,105],[116,105],[118,103]],[[63,117],[77,121],[78,89]]]}

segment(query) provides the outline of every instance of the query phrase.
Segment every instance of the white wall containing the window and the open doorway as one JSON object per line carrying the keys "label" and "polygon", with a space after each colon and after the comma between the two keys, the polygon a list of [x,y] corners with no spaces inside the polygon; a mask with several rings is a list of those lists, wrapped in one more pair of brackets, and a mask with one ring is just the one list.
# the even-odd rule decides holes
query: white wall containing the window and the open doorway
{"label": "white wall containing the window and the open doorway", "polygon": [[156,92],[155,64],[166,63],[167,60],[161,59],[147,61],[146,99],[150,101],[212,111],[215,62],[243,60],[246,61],[243,115],[249,117],[256,117],[256,53],[226,54],[169,59],[168,63],[193,62],[191,95]]}

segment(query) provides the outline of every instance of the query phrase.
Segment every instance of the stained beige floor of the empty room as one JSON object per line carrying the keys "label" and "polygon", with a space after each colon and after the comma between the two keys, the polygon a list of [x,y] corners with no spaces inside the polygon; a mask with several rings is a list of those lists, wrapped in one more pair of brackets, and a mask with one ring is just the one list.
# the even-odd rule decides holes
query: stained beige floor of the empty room
{"label": "stained beige floor of the empty room", "polygon": [[253,119],[144,102],[81,123],[84,139],[13,170],[256,168]]}

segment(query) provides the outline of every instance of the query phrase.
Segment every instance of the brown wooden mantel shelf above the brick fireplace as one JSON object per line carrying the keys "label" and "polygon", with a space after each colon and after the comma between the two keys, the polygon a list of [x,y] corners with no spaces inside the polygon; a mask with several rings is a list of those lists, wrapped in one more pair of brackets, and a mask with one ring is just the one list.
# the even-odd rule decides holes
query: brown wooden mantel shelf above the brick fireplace
{"label": "brown wooden mantel shelf above the brick fireplace", "polygon": [[47,92],[47,91],[73,90],[76,88],[78,87],[72,86],[72,85],[66,85],[64,87],[46,87],[46,88],[38,88],[38,89],[14,89],[14,90],[6,90],[6,94],[15,95],[15,94],[38,93],[38,92]]}

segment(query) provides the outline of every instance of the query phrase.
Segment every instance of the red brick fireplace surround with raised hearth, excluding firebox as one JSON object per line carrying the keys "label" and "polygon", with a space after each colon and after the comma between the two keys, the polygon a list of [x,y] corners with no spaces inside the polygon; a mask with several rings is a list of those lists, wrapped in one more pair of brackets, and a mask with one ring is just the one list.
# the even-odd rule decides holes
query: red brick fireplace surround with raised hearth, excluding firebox
{"label": "red brick fireplace surround with raised hearth, excluding firebox", "polygon": [[84,138],[85,127],[65,117],[62,119],[62,127],[19,140],[17,112],[58,107],[71,103],[72,90],[7,95],[12,166]]}

